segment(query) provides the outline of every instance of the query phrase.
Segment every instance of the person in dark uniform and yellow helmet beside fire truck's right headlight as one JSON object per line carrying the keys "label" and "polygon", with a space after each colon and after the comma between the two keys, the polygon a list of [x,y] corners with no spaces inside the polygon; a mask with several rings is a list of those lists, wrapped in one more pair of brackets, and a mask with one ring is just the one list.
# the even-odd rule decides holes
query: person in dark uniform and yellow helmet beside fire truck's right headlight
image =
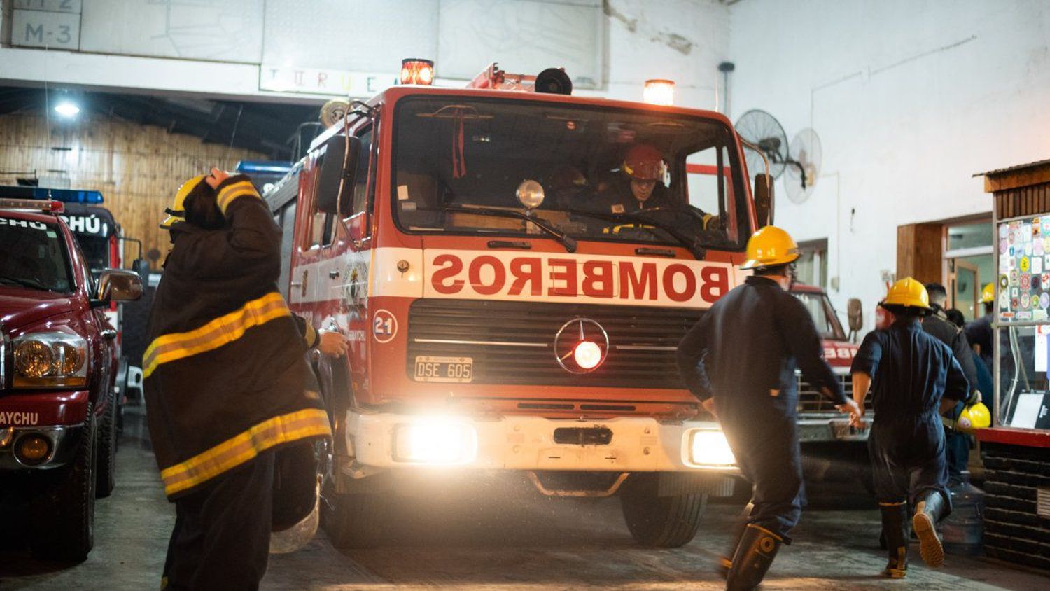
{"label": "person in dark uniform and yellow helmet beside fire truck's right headlight", "polygon": [[728,589],[752,589],[798,523],[804,499],[795,370],[840,409],[857,405],[824,361],[805,307],[788,293],[798,247],[774,226],[748,241],[741,269],[755,275],[726,294],[678,344],[689,389],[714,414],[754,490],[728,566]]}

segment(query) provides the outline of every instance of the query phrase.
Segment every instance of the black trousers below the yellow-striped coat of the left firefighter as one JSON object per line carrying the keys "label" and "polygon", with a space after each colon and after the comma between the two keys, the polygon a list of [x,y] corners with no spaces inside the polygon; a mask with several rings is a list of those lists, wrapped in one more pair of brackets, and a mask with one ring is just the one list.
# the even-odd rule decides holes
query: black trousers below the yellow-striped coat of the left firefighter
{"label": "black trousers below the yellow-striped coat of the left firefighter", "polygon": [[266,451],[175,501],[163,589],[258,589],[270,551],[273,467]]}

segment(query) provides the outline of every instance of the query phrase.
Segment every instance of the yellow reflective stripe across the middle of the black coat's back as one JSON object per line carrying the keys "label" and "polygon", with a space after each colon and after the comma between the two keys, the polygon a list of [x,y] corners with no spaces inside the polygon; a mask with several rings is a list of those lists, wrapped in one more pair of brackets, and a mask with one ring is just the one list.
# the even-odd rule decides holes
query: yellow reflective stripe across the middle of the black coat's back
{"label": "yellow reflective stripe across the middle of the black coat's back", "polygon": [[271,292],[200,329],[161,335],[153,339],[142,356],[143,377],[148,378],[162,363],[218,349],[239,339],[252,326],[291,314],[280,293]]}

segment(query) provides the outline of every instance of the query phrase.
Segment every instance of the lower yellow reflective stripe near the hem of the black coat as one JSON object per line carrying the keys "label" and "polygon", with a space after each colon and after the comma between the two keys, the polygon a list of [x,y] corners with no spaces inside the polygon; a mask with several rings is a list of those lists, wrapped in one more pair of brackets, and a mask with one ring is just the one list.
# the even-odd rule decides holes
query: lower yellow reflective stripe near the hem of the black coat
{"label": "lower yellow reflective stripe near the hem of the black coat", "polygon": [[268,419],[207,451],[161,470],[164,492],[171,495],[193,488],[282,443],[331,435],[328,413],[320,408]]}

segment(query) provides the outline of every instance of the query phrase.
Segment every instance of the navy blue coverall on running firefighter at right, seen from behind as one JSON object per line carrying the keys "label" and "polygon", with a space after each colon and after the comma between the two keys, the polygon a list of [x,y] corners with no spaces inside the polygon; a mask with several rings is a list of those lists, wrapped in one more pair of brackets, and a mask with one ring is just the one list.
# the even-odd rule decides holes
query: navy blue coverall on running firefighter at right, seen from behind
{"label": "navy blue coverall on running firefighter at right, seen from behind", "polygon": [[875,419],[867,439],[875,493],[880,503],[914,504],[936,490],[951,512],[942,396],[965,400],[970,392],[948,345],[923,332],[915,320],[898,320],[864,337],[850,373],[872,377]]}

